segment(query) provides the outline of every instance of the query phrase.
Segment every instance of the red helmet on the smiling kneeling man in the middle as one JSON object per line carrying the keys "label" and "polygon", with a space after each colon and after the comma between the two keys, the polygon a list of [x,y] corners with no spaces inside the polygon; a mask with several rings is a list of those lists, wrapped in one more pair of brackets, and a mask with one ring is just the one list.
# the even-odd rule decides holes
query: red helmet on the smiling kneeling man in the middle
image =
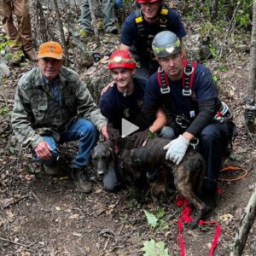
{"label": "red helmet on the smiling kneeling man in the middle", "polygon": [[131,56],[130,51],[125,49],[117,49],[109,58],[108,68],[115,67],[135,68],[136,62]]}

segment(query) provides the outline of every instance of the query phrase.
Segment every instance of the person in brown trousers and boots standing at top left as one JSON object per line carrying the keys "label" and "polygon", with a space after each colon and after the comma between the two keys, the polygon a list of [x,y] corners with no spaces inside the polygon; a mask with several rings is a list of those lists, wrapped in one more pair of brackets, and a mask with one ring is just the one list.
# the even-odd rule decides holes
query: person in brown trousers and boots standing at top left
{"label": "person in brown trousers and boots standing at top left", "polygon": [[[0,16],[3,28],[9,41],[12,41],[11,49],[13,57],[11,62],[19,64],[25,55],[30,61],[36,61],[36,55],[32,49],[32,30],[29,15],[28,0],[0,0]],[[18,26],[15,26],[16,16]]]}

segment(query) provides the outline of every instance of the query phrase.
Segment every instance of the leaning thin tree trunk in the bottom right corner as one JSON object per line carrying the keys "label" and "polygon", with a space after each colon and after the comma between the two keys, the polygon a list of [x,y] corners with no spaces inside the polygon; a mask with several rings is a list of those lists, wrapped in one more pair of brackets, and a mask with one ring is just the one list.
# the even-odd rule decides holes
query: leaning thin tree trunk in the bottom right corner
{"label": "leaning thin tree trunk in the bottom right corner", "polygon": [[243,248],[246,245],[247,236],[253,221],[256,218],[256,183],[254,184],[254,191],[251,195],[251,198],[247,204],[245,212],[243,213],[240,221],[240,226],[236,232],[236,238],[234,241],[233,252],[230,253],[230,256],[241,256]]}

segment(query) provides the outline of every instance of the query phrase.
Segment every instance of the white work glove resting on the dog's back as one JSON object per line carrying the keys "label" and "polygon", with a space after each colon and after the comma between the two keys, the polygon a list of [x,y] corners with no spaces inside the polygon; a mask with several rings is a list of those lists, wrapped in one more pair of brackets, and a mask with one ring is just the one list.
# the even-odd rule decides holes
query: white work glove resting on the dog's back
{"label": "white work glove resting on the dog's back", "polygon": [[189,148],[189,140],[180,135],[177,139],[168,143],[164,149],[166,152],[166,160],[171,160],[176,165],[179,165]]}

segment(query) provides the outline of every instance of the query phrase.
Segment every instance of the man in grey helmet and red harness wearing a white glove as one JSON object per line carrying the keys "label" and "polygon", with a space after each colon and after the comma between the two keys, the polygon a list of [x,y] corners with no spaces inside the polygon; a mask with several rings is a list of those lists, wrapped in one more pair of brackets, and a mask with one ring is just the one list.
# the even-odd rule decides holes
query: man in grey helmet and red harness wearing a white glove
{"label": "man in grey helmet and red harness wearing a white glove", "polygon": [[160,68],[146,87],[141,114],[150,121],[163,106],[177,136],[164,148],[166,160],[178,165],[190,144],[204,156],[207,173],[202,200],[213,207],[221,160],[236,132],[232,114],[220,102],[210,70],[196,62],[187,64],[173,32],[158,33],[152,48]]}

